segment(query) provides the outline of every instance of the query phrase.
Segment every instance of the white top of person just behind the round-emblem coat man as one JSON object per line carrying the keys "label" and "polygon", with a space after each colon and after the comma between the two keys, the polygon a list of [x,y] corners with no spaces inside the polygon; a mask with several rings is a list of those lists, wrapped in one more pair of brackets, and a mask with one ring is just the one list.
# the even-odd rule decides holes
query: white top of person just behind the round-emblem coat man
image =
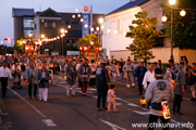
{"label": "white top of person just behind the round-emblem coat man", "polygon": [[145,77],[144,77],[144,79],[143,79],[143,84],[144,84],[144,88],[146,89],[147,88],[147,81],[148,82],[152,82],[152,81],[155,81],[156,80],[156,78],[155,78],[155,72],[146,72],[146,74],[145,74]]}

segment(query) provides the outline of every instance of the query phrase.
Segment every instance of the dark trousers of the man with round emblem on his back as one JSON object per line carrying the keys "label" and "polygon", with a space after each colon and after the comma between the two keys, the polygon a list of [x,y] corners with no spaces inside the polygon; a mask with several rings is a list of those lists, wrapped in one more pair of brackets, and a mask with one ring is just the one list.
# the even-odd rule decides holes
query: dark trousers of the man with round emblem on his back
{"label": "dark trousers of the man with round emblem on his back", "polygon": [[[158,118],[160,118],[161,123],[166,125],[169,122],[169,119],[164,119],[163,117],[155,116],[155,115],[149,115],[149,125],[148,125],[148,130],[154,130],[156,125],[154,123],[157,122]],[[162,128],[163,130],[169,130],[169,128],[164,127]]]}

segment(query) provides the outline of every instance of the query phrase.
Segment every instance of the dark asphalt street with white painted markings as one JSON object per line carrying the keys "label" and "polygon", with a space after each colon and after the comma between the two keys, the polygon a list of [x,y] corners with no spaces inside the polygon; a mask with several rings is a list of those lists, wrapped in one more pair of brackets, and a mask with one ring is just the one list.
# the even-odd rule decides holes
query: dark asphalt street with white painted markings
{"label": "dark asphalt street with white painted markings", "polygon": [[[88,88],[87,96],[82,96],[81,88],[77,88],[76,96],[65,95],[65,86],[62,76],[54,76],[54,81],[49,88],[48,102],[37,99],[29,100],[27,86],[23,89],[11,90],[9,82],[7,99],[3,103],[10,115],[13,127],[11,130],[146,130],[147,128],[134,128],[133,123],[148,122],[148,108],[139,104],[137,87],[127,89],[125,80],[115,82],[117,107],[119,113],[97,112],[96,88]],[[193,122],[196,125],[196,102],[191,102],[191,91],[183,95],[183,116],[171,112],[171,122]],[[170,103],[170,108],[172,103]],[[187,130],[194,130],[187,129]],[[175,128],[180,129],[180,128]],[[174,130],[175,130],[174,129]],[[159,130],[159,129],[158,129]],[[181,129],[180,129],[181,130]]]}

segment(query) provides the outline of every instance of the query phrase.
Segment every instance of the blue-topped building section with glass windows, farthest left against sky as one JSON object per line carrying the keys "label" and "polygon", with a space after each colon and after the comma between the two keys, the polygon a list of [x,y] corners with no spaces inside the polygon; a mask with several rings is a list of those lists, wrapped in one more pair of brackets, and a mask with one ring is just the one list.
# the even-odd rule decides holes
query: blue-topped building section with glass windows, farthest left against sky
{"label": "blue-topped building section with glass windows, farthest left against sky", "polygon": [[34,9],[12,9],[14,43],[20,38],[34,34]]}

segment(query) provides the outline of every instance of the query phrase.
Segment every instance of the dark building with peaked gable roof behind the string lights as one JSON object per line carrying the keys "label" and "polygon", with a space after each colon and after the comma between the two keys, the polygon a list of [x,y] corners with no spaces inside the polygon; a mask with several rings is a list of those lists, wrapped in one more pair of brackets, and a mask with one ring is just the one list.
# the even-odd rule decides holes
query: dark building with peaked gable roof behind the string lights
{"label": "dark building with peaked gable roof behind the string lights", "polygon": [[[19,9],[17,9],[19,10]],[[98,20],[105,17],[105,14],[93,14],[93,26],[100,26]],[[14,17],[15,18],[15,17]],[[62,47],[66,50],[66,47],[72,44],[76,46],[79,38],[82,38],[82,13],[64,13],[57,12],[52,9],[47,9],[42,12],[34,13],[34,38],[41,39],[41,35],[45,38],[54,38],[62,35],[61,29],[68,30],[68,34],[62,39],[44,41],[40,47],[40,53],[52,54],[59,53],[62,54]],[[20,22],[19,22],[20,23]],[[14,24],[14,28],[17,26]],[[19,29],[19,28],[16,28]],[[15,34],[16,31],[14,31]],[[24,35],[22,37],[25,37]],[[17,39],[17,38],[16,38]],[[63,44],[62,44],[63,43]],[[69,51],[69,50],[68,50]],[[63,51],[65,54],[65,51]]]}

